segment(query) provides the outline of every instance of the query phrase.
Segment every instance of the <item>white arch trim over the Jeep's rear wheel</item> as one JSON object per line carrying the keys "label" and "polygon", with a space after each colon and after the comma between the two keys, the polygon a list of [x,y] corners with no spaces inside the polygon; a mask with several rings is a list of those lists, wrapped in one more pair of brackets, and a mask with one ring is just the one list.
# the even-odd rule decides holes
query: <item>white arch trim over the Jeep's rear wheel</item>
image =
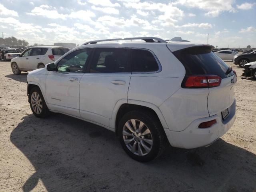
{"label": "white arch trim over the Jeep's rear wheel", "polygon": [[118,101],[116,106],[114,107],[113,113],[112,113],[112,118],[110,119],[110,127],[114,128],[116,134],[117,134],[117,130],[118,130],[118,122],[120,121],[120,119],[122,118],[122,116],[131,111],[131,110],[148,110],[150,112],[152,112],[152,114],[156,115],[156,117],[158,118],[158,120],[160,121],[160,123],[162,124],[163,128],[168,129],[166,120],[164,119],[164,116],[162,114],[162,112],[160,111],[160,109],[152,104],[152,103],[148,103],[148,102],[143,102],[143,101],[138,101],[138,100],[125,100],[124,101]]}

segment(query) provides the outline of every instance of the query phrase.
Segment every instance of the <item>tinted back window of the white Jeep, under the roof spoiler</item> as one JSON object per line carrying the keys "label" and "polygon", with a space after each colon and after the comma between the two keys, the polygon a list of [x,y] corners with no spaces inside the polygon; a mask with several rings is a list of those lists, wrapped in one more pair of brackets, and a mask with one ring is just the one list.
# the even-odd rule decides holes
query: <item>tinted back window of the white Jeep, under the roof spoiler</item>
{"label": "tinted back window of the white Jeep, under the roof spoiler", "polygon": [[210,46],[199,46],[178,50],[173,54],[184,65],[187,76],[211,74],[226,78],[234,75],[234,72],[226,75],[229,66],[211,50]]}

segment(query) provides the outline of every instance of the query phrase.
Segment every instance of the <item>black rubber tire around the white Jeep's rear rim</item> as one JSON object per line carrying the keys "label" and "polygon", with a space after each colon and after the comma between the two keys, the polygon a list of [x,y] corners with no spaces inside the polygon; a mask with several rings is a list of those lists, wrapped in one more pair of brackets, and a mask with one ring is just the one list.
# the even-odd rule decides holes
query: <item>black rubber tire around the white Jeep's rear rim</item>
{"label": "black rubber tire around the white Jeep's rear rim", "polygon": [[[125,136],[123,136],[123,129],[125,129],[125,124],[129,120],[141,121],[146,125],[146,128],[150,130],[150,137],[152,136],[152,147],[150,152],[148,152],[147,154],[145,153],[145,155],[140,156],[138,153],[134,154],[124,143]],[[167,145],[167,138],[164,133],[162,124],[160,123],[155,114],[153,114],[152,112],[148,112],[147,110],[134,110],[124,114],[124,116],[121,118],[118,124],[118,137],[124,151],[131,158],[139,162],[149,162],[155,159],[156,157],[160,156],[164,152]],[[137,149],[139,147],[138,145],[142,146],[141,144],[139,144],[139,142],[141,143],[143,141],[138,140],[138,144],[136,147]],[[144,142],[144,144],[146,143]]]}

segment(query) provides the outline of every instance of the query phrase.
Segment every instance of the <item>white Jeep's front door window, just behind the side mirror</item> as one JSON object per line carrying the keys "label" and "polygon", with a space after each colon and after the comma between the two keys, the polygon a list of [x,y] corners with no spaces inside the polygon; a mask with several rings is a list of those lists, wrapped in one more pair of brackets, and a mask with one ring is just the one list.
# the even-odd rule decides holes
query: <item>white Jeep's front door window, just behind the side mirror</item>
{"label": "white Jeep's front door window, just behind the side mirror", "polygon": [[84,68],[86,68],[86,61],[90,51],[91,49],[87,48],[68,54],[58,62],[57,70],[60,72],[82,73]]}

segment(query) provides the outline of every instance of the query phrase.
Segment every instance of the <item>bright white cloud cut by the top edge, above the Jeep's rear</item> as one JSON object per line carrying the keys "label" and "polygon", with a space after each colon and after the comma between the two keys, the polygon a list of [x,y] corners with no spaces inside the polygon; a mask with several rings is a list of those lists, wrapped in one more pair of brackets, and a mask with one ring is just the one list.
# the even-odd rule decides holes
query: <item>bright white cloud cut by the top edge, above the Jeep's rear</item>
{"label": "bright white cloud cut by the top edge, above the Jeep's rear", "polygon": [[173,4],[181,4],[183,6],[199,8],[208,11],[206,16],[218,16],[221,12],[236,12],[232,6],[235,0],[177,0]]}

